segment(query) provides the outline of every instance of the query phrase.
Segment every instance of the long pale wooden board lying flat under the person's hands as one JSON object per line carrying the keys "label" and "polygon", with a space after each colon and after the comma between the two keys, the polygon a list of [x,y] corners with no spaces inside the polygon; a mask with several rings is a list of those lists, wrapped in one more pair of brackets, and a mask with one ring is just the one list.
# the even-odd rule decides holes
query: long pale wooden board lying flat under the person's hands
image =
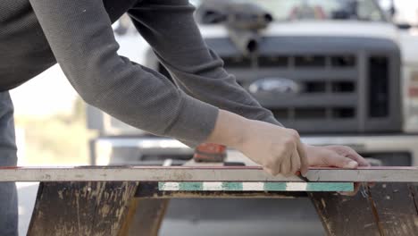
{"label": "long pale wooden board lying flat under the person's hands", "polygon": [[[418,167],[355,170],[312,168],[309,181],[417,182]],[[0,181],[302,181],[297,176],[271,176],[260,167],[82,166],[0,168]]]}

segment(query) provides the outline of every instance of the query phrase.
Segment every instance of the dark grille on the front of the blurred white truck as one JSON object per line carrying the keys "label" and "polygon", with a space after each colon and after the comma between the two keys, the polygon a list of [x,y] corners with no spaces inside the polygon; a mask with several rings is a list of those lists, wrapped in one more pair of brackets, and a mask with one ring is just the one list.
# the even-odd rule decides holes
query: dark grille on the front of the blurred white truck
{"label": "dark grille on the front of the blurred white truck", "polygon": [[[272,38],[264,40],[272,45]],[[321,45],[300,40],[300,46],[296,39],[291,42],[294,47],[261,46],[253,57],[221,56],[245,89],[266,78],[297,83],[297,93],[253,93],[287,127],[315,134],[401,131],[400,55],[393,42],[351,38],[347,45],[357,47],[345,48],[338,46],[339,38]]]}

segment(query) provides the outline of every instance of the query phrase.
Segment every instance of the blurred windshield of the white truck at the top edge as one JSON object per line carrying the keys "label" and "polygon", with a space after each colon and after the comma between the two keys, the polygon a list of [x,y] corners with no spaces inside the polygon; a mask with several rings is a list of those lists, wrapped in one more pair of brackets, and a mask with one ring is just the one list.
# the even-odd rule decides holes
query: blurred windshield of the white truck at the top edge
{"label": "blurred windshield of the white truck at the top edge", "polygon": [[[194,1],[196,4],[198,2]],[[374,0],[230,0],[231,3],[258,4],[276,21],[357,20],[386,21]]]}

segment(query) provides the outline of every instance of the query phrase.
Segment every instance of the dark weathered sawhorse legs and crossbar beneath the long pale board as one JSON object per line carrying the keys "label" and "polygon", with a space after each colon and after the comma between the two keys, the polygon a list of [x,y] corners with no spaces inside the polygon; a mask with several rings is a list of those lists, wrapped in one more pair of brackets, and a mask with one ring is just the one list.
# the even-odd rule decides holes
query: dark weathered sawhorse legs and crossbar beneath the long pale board
{"label": "dark weathered sawhorse legs and crossbar beneath the long pale board", "polygon": [[[156,236],[168,198],[297,198],[305,192],[161,191],[158,182],[42,182],[28,235]],[[418,187],[377,183],[354,197],[310,192],[329,235],[418,235]],[[136,197],[136,198],[134,198]]]}

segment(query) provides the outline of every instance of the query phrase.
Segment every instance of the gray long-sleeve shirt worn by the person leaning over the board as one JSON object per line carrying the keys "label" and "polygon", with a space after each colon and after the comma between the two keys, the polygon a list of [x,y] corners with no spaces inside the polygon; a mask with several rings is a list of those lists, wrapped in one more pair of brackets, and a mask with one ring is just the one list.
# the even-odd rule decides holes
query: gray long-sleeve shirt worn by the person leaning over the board
{"label": "gray long-sleeve shirt worn by the person leaning over the board", "polygon": [[[181,89],[117,54],[111,24],[126,12]],[[188,0],[2,0],[0,90],[57,62],[90,105],[189,145],[213,131],[218,107],[280,125],[225,72],[193,12]]]}

